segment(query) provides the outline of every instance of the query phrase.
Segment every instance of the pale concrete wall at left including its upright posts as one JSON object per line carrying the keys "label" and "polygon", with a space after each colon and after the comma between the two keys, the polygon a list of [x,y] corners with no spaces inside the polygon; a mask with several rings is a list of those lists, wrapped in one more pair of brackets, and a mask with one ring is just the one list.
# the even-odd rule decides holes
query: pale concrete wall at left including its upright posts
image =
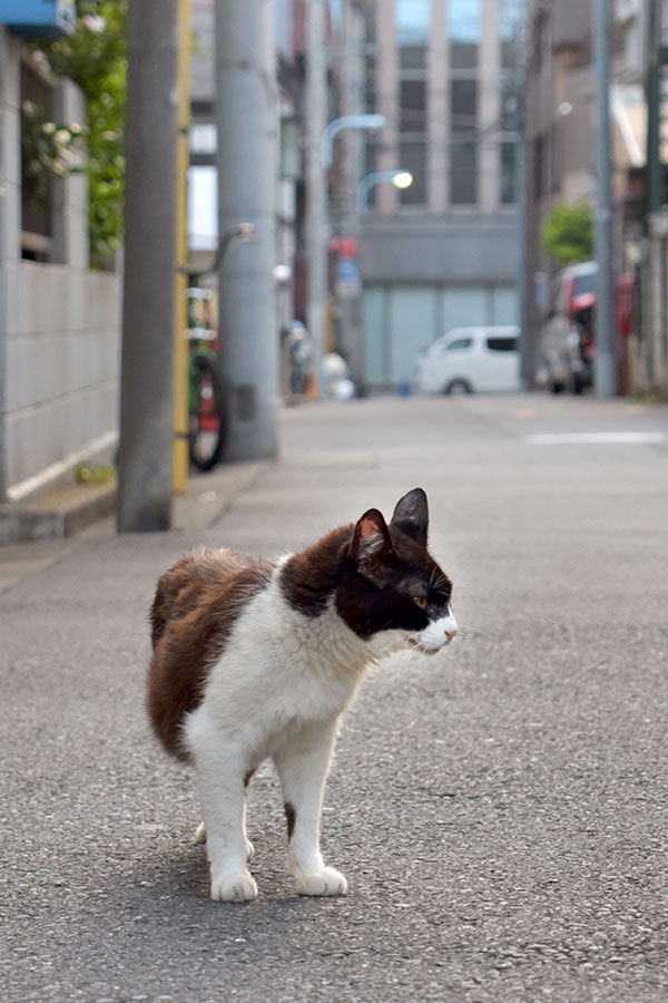
{"label": "pale concrete wall at left including its upright posts", "polygon": [[[118,438],[120,276],[88,269],[84,175],[53,192],[52,261],[21,259],[21,42],[0,27],[0,497],[18,499]],[[85,124],[62,81],[61,120]]]}

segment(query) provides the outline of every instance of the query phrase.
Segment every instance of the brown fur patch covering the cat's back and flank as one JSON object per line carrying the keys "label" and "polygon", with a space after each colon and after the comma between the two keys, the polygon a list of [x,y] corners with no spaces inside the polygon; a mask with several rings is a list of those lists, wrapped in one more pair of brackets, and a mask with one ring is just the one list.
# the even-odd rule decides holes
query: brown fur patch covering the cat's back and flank
{"label": "brown fur patch covering the cat's back and flank", "polygon": [[210,666],[272,568],[233,551],[202,549],[186,554],[158,582],[146,704],[155,733],[173,756],[187,758],[180,742],[184,715],[199,705]]}

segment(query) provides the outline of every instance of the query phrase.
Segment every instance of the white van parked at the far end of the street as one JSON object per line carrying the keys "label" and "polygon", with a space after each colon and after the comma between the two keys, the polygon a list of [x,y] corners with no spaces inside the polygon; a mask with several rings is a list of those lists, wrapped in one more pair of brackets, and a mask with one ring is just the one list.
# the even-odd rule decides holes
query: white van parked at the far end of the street
{"label": "white van parked at the far end of the street", "polygon": [[455,328],[415,360],[419,393],[515,393],[519,328]]}

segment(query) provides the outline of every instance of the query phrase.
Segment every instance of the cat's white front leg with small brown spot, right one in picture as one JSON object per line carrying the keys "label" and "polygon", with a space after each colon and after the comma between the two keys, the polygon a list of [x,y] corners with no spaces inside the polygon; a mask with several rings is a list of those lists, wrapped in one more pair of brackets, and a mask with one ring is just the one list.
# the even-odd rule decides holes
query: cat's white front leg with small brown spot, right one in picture
{"label": "cat's white front leg with small brown spot, right one in picture", "polygon": [[346,879],[326,867],[320,851],[323,788],[338,719],[304,726],[274,756],[283,785],[288,866],[299,895],[345,895]]}

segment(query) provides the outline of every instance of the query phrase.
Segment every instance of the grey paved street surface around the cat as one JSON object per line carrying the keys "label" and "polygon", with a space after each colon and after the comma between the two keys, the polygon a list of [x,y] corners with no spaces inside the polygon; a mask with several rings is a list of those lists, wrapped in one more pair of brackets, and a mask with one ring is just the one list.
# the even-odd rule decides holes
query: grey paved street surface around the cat
{"label": "grey paved street surface around the cat", "polygon": [[[282,426],[210,529],[73,541],[0,594],[2,1003],[665,1003],[668,408],[381,398]],[[259,898],[214,904],[144,714],[155,580],[418,485],[461,631],[345,719],[323,845],[350,893],[293,894],[265,767]]]}

